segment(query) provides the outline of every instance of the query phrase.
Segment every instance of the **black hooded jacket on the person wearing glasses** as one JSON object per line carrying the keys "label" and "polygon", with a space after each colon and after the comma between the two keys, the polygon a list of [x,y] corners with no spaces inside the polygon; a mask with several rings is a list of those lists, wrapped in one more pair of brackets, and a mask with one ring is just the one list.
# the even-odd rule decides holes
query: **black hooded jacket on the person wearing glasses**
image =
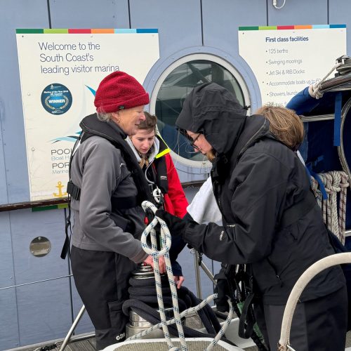
{"label": "black hooded jacket on the person wearing glasses", "polygon": [[[216,151],[211,178],[223,215],[223,226],[187,225],[185,241],[213,260],[251,263],[264,303],[285,304],[307,267],[333,253],[317,202],[295,223],[280,225],[284,211],[310,194],[303,164],[274,139],[267,119],[246,117],[234,95],[217,84],[194,88],[176,124],[203,133]],[[318,274],[300,300],[344,285],[340,267],[333,267]]]}

